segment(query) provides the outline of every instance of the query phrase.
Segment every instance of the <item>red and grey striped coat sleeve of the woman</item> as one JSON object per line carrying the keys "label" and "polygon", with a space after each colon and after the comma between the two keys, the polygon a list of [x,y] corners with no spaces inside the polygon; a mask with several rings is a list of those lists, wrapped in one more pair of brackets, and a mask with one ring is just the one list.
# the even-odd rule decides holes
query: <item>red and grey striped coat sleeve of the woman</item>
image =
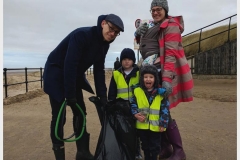
{"label": "red and grey striped coat sleeve of the woman", "polygon": [[181,43],[181,32],[176,23],[169,23],[164,30],[164,64],[162,80],[172,82],[175,72],[178,45]]}

